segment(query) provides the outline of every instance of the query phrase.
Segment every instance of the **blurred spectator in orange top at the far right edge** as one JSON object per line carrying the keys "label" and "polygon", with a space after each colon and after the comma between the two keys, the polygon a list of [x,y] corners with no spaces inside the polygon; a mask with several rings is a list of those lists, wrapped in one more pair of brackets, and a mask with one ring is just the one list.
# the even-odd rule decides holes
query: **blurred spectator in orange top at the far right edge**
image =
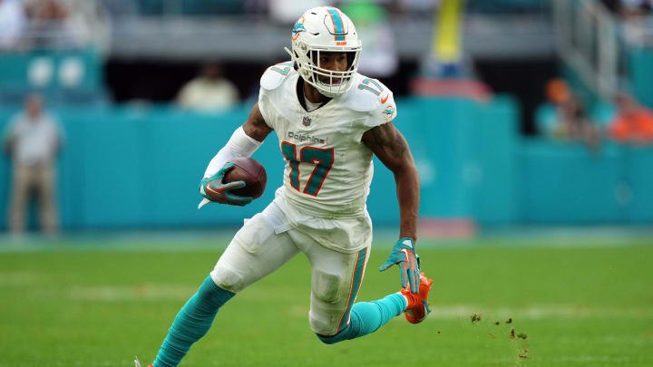
{"label": "blurred spectator in orange top at the far right edge", "polygon": [[610,137],[619,142],[653,143],[653,112],[628,93],[619,93],[615,104],[618,111],[610,122]]}

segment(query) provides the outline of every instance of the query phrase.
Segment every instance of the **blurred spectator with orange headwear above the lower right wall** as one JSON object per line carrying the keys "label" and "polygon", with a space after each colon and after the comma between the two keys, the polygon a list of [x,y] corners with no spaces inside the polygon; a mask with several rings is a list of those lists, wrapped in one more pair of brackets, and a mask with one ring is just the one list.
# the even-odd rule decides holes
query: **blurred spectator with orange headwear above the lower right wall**
{"label": "blurred spectator with orange headwear above the lower right wall", "polygon": [[547,97],[555,106],[555,120],[546,125],[547,135],[556,139],[581,140],[590,149],[599,144],[599,129],[590,120],[567,82],[554,79],[547,84]]}

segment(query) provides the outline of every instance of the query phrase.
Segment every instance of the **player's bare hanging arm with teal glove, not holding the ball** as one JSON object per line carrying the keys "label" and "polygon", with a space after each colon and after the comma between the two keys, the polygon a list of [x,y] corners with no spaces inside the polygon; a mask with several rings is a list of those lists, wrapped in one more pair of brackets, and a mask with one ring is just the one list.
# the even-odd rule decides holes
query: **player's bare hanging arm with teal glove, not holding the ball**
{"label": "player's bare hanging arm with teal glove, not holding the ball", "polygon": [[415,251],[417,216],[419,214],[419,173],[408,142],[392,121],[365,131],[363,143],[395,175],[399,202],[400,238],[380,271],[395,264],[401,267],[401,285],[419,292],[419,256]]}

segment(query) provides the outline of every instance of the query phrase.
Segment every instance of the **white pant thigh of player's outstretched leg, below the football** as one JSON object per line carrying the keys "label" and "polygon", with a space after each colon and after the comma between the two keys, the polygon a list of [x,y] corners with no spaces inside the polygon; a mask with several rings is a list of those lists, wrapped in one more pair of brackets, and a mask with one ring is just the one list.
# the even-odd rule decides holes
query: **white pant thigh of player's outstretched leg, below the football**
{"label": "white pant thigh of player's outstretched leg, below the football", "polygon": [[249,219],[211,272],[216,285],[238,293],[297,255],[288,233],[278,229],[284,222],[285,216],[274,203]]}

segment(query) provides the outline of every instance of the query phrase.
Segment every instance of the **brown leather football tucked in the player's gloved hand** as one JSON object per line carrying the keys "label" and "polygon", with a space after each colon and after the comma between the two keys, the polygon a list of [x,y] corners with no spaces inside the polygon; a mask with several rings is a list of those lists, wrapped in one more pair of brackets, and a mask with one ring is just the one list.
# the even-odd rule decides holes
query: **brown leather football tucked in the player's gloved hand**
{"label": "brown leather football tucked in the player's gloved hand", "polygon": [[234,168],[229,169],[222,182],[245,181],[244,188],[231,190],[239,197],[260,198],[268,183],[268,175],[258,160],[251,158],[234,159]]}

